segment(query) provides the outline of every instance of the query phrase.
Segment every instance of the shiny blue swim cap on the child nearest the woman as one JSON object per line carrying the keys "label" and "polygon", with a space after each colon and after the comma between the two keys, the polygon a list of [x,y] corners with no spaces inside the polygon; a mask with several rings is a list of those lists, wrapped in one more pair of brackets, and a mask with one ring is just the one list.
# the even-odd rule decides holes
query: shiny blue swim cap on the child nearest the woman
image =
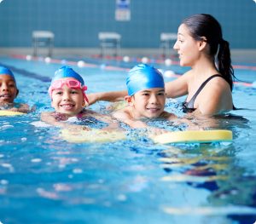
{"label": "shiny blue swim cap on the child nearest the woman", "polygon": [[165,82],[162,74],[156,68],[140,64],[128,72],[126,86],[128,95],[134,95],[143,89],[165,88]]}

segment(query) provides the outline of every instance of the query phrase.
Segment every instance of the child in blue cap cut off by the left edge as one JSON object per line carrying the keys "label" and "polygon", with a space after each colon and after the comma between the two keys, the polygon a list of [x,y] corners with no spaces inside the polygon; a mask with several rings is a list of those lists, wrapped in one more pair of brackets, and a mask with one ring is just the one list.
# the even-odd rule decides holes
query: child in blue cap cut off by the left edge
{"label": "child in blue cap cut off by the left edge", "polygon": [[28,105],[14,102],[18,94],[19,89],[13,72],[5,66],[0,66],[0,110],[29,112]]}

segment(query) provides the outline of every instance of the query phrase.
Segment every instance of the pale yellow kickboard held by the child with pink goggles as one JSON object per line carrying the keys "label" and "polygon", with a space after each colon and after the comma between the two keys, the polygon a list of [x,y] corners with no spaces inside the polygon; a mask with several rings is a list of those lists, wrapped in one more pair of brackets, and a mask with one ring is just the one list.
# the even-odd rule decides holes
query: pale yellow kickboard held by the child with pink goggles
{"label": "pale yellow kickboard held by the child with pink goggles", "polygon": [[61,129],[61,138],[72,143],[119,141],[125,137],[122,131]]}

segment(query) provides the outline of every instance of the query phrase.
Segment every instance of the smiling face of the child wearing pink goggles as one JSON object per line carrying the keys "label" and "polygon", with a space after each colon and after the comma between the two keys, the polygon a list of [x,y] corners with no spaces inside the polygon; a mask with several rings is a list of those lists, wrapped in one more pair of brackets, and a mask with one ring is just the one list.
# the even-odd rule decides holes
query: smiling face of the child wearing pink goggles
{"label": "smiling face of the child wearing pink goggles", "polygon": [[51,106],[55,108],[55,112],[75,116],[84,108],[82,89],[69,88],[64,84],[60,89],[53,89],[51,96]]}

